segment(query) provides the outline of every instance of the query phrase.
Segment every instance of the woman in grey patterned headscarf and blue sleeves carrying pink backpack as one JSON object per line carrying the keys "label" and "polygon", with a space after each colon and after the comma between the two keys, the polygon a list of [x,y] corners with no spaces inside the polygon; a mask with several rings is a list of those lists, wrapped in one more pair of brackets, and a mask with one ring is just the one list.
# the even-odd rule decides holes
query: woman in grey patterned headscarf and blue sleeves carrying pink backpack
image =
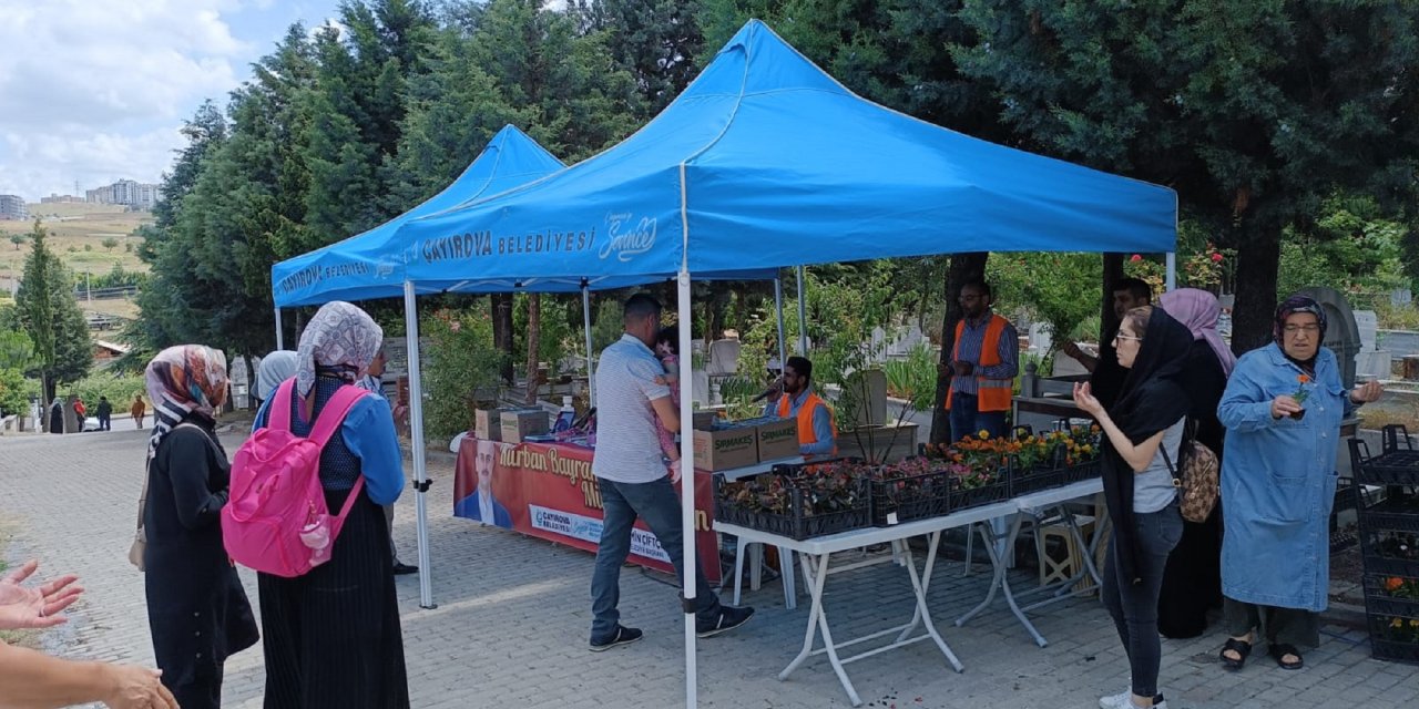
{"label": "woman in grey patterned headscarf and blue sleeves carrying pink backpack", "polygon": [[[359,308],[326,303],[301,333],[291,430],[309,435],[321,410],[363,376],[379,352],[383,330]],[[282,384],[284,386],[284,384]],[[272,394],[253,430],[267,425]],[[389,529],[380,505],[393,503],[404,485],[403,461],[389,403],[366,396],[345,415],[339,435],[321,454],[325,503],[345,505],[358,478],[359,499],[331,560],[305,576],[258,574],[267,709],[339,706],[399,709],[409,706],[404,645],[394,596]]]}

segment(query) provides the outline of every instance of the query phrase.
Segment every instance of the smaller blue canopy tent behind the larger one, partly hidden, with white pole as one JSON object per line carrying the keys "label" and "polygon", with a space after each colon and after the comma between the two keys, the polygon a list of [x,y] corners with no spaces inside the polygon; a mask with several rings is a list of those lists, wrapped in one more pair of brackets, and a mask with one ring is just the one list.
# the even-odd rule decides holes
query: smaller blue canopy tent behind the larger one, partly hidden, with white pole
{"label": "smaller blue canopy tent behind the larger one, partly hidden, with white pole", "polygon": [[[404,320],[409,337],[412,377],[417,380],[417,333],[419,323],[414,309],[414,294],[430,292],[416,289],[404,275],[399,227],[413,218],[467,206],[480,199],[529,183],[566,167],[541,145],[515,126],[504,126],[488,140],[477,159],[438,194],[423,204],[394,217],[379,227],[359,235],[338,241],[325,248],[289,258],[271,267],[271,296],[275,302],[275,342],[284,347],[281,333],[281,308],[297,305],[321,305],[331,301],[366,301],[372,298],[404,296]],[[437,292],[437,291],[433,291]],[[587,345],[587,350],[590,346]],[[423,407],[410,407],[410,427],[414,440],[423,440]],[[427,471],[424,450],[413,448],[414,479],[419,523],[419,587],[424,607],[433,605],[433,583],[429,563],[429,525],[424,492]]]}

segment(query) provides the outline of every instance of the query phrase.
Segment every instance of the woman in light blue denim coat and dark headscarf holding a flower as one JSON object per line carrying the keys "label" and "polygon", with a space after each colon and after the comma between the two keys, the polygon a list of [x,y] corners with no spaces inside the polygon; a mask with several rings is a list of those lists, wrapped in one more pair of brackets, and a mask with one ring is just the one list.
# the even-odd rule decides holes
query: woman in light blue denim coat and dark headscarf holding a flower
{"label": "woman in light blue denim coat and dark headscarf holding a flower", "polygon": [[1330,590],[1328,522],[1340,424],[1379,398],[1378,383],[1347,391],[1325,339],[1325,313],[1304,296],[1276,311],[1276,342],[1237,360],[1218,406],[1222,464],[1222,664],[1240,669],[1260,630],[1284,669],[1298,645],[1320,644]]}

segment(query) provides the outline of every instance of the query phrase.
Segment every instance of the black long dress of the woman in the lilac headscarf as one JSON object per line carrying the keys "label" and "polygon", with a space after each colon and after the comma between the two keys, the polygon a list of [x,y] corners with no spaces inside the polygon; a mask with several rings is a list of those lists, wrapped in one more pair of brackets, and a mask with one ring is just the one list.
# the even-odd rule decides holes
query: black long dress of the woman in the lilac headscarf
{"label": "black long dress of the woman in the lilac headscarf", "polygon": [[[1188,350],[1188,393],[1196,421],[1196,440],[1222,461],[1226,430],[1218,421],[1218,403],[1227,387],[1226,373],[1206,340]],[[1158,632],[1166,638],[1195,638],[1208,630],[1208,608],[1222,605],[1222,503],[1206,522],[1182,525],[1182,539],[1168,557],[1162,594],[1158,597]]]}

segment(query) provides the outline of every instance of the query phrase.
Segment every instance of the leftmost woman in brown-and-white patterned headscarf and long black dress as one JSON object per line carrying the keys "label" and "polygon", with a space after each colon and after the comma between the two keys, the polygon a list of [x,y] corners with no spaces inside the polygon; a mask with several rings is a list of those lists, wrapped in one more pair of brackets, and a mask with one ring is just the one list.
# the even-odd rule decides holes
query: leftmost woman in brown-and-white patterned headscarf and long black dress
{"label": "leftmost woman in brown-and-white patterned headscarf and long black dress", "polygon": [[251,604],[221,545],[231,467],[213,411],[227,397],[227,359],[201,345],[167,347],[146,379],[155,421],[143,584],[153,654],[180,706],[216,709],[227,657],[257,642]]}

